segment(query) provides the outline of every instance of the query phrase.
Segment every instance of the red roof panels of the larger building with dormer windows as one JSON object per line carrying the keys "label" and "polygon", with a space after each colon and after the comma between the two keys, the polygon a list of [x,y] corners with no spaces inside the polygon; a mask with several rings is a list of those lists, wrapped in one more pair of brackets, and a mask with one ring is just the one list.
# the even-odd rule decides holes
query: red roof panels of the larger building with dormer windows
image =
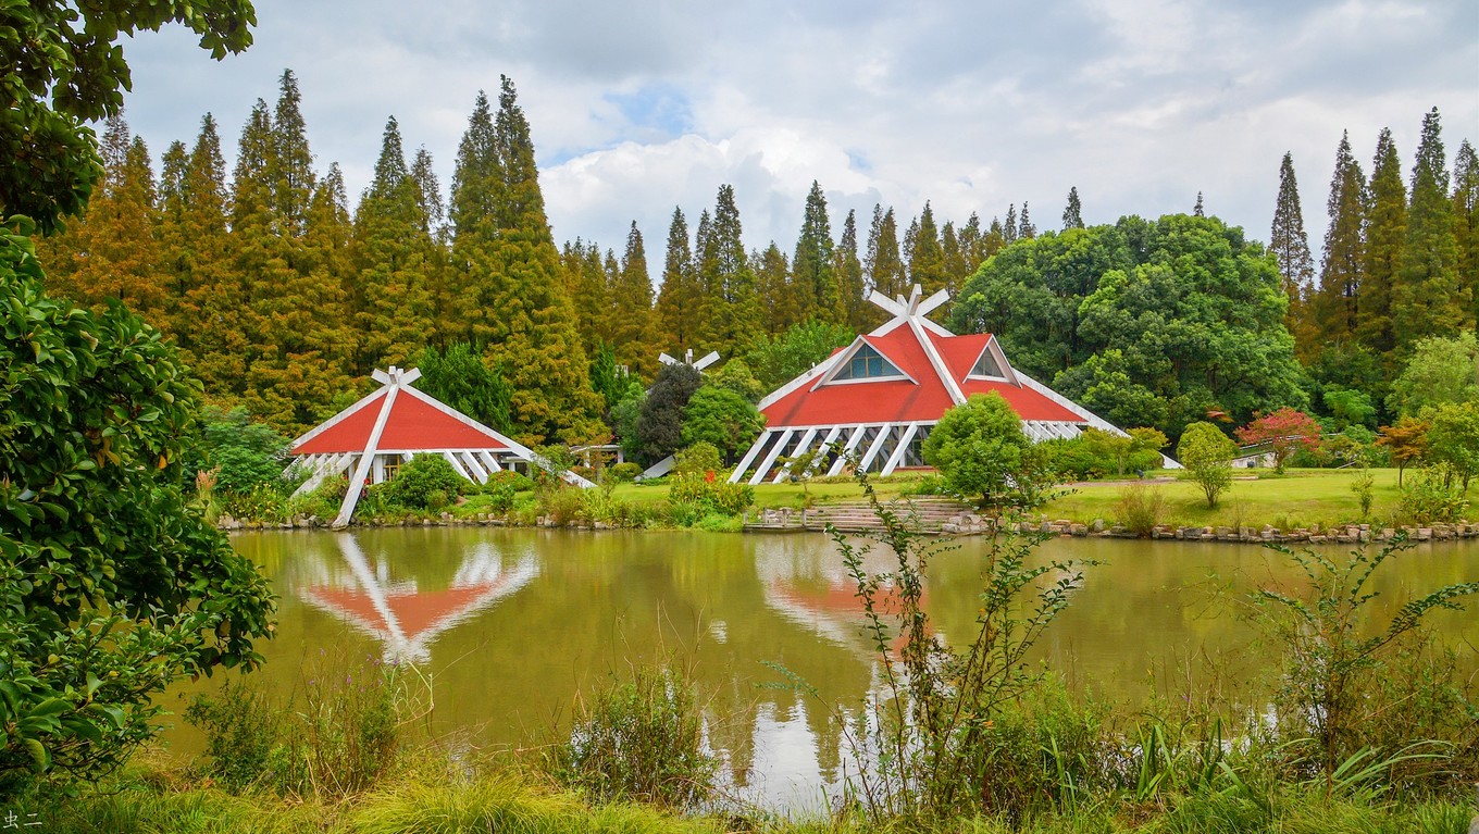
{"label": "red roof panels of the larger building with dormer windows", "polygon": [[[989,333],[970,336],[924,333],[966,396],[994,390],[1022,420],[1089,421],[1087,417],[1075,414],[1029,387],[1010,382],[967,379],[981,352],[991,342]],[[760,410],[765,414],[766,427],[932,423],[954,405],[950,390],[941,382],[913,327],[895,327],[883,336],[861,336],[859,340],[871,345],[874,350],[898,365],[914,382],[883,379],[821,386],[808,382]],[[816,390],[812,390],[813,387]]]}

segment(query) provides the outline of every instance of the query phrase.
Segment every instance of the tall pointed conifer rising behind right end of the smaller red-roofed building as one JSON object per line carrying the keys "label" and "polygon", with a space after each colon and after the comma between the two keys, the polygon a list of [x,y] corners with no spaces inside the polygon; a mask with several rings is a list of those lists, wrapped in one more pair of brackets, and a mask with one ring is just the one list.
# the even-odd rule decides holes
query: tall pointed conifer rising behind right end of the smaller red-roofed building
{"label": "tall pointed conifer rising behind right end of the smaller red-roofed building", "polygon": [[605,433],[600,404],[590,390],[590,367],[561,281],[529,124],[507,77],[501,78],[494,146],[501,200],[491,219],[490,254],[503,278],[494,313],[506,322],[506,336],[490,345],[490,358],[506,368],[513,389],[510,414],[522,439],[595,439]]}

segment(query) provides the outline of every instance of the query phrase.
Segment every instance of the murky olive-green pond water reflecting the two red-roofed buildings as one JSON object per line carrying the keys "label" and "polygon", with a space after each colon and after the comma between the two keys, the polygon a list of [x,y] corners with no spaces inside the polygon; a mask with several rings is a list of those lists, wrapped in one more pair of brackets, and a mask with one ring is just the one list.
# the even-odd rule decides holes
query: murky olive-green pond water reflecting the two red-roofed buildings
{"label": "murky olive-green pond water reflecting the two red-roofed buildings", "polygon": [[[549,741],[568,726],[577,694],[667,661],[698,683],[741,797],[819,807],[846,763],[830,707],[855,707],[877,685],[852,583],[819,534],[433,526],[251,532],[232,543],[281,596],[277,639],[260,643],[271,688],[300,688],[324,658],[413,661],[430,682],[433,729],[484,748]],[[926,590],[947,642],[972,630],[989,547],[954,544]],[[1037,652],[1072,685],[1130,708],[1188,688],[1260,696],[1276,649],[1238,608],[1254,587],[1299,578],[1282,556],[1127,540],[1053,540],[1043,552],[1099,562]],[[870,556],[886,563],[884,553]],[[1414,547],[1378,575],[1378,603],[1390,612],[1414,590],[1476,577],[1479,543]],[[1435,624],[1473,658],[1479,617],[1445,611]],[[775,665],[815,696],[766,686],[782,682]],[[176,698],[167,705],[183,711]],[[201,747],[186,726],[170,739],[182,753]]]}

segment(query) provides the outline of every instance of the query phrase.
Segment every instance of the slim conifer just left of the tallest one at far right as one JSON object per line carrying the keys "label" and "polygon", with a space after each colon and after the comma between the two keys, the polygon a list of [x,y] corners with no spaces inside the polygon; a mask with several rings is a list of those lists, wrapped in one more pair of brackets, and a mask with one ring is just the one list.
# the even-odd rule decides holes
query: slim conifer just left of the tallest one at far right
{"label": "slim conifer just left of the tallest one at far right", "polygon": [[1356,311],[1356,337],[1377,355],[1387,355],[1396,342],[1392,334],[1392,290],[1396,284],[1402,244],[1407,240],[1407,186],[1392,130],[1383,127],[1371,161],[1367,191],[1365,281]]}

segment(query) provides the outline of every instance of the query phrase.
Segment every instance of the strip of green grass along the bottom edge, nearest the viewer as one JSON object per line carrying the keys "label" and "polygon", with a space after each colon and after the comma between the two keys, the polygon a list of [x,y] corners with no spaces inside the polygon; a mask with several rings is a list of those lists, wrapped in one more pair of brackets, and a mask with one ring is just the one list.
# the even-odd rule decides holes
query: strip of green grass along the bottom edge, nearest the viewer
{"label": "strip of green grass along the bottom edge, nearest the viewer", "polygon": [[[180,773],[133,770],[80,799],[47,803],[47,834],[1463,834],[1467,801],[1361,803],[1319,791],[1279,790],[1269,812],[1226,791],[1162,797],[1137,804],[1097,797],[1072,813],[1012,825],[961,818],[933,825],[873,822],[849,815],[785,821],[768,813],[679,816],[633,803],[595,804],[513,773],[482,778],[447,772],[408,773],[349,801],[275,794],[232,796]],[[10,804],[18,824],[31,810]]]}

